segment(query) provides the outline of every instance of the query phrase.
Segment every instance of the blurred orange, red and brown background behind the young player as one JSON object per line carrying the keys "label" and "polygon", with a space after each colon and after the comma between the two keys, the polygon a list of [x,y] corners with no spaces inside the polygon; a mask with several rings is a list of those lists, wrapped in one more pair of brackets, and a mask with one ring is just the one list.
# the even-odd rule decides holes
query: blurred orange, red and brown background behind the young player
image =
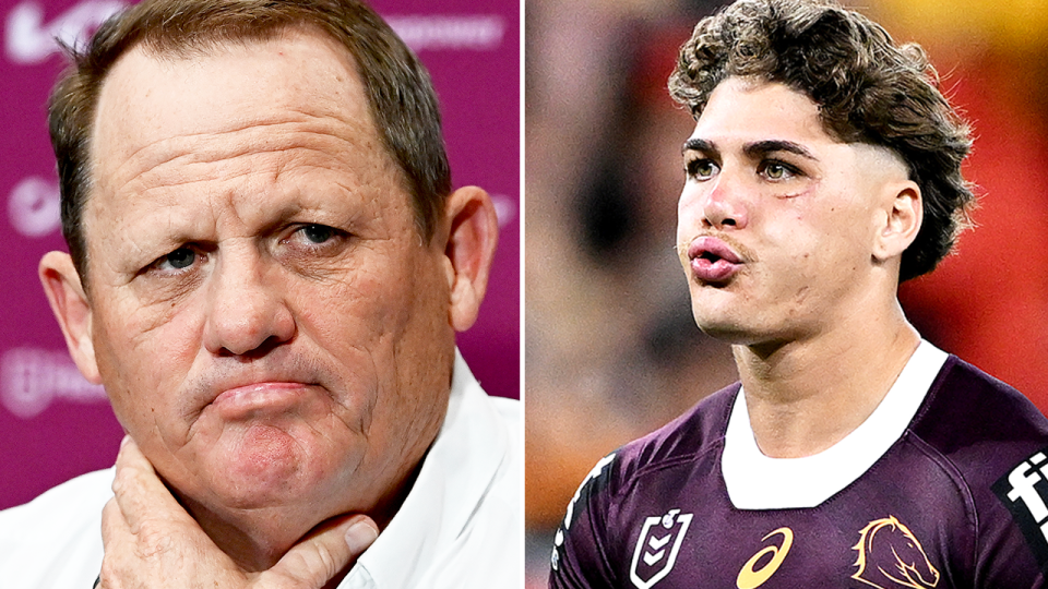
{"label": "blurred orange, red and brown background behind the young player", "polygon": [[[726,3],[726,2],[725,2]],[[1048,409],[1048,1],[846,2],[925,46],[975,129],[978,227],[903,286],[940,348]],[[666,92],[715,0],[525,2],[528,587],[586,472],[736,380],[695,327],[674,251],[680,145]]]}

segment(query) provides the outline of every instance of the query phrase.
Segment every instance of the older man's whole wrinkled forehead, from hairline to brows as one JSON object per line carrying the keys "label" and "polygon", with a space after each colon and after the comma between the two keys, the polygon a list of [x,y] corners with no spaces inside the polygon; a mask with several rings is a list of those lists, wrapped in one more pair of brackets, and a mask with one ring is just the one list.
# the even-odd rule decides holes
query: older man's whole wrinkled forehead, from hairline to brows
{"label": "older man's whole wrinkled forehead, from hairline to brows", "polygon": [[353,61],[322,35],[198,56],[135,48],[102,89],[95,130],[83,224],[92,243],[138,217],[159,228],[178,211],[258,220],[274,207],[357,202],[368,187],[384,189],[361,216],[410,203]]}

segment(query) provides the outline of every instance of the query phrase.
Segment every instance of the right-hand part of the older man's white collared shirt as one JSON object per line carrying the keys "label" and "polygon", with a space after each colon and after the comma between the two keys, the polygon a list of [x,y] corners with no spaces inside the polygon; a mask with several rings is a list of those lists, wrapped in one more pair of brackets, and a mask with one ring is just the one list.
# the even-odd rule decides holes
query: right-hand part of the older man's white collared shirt
{"label": "right-hand part of the older man's white collared shirt", "polygon": [[415,485],[340,589],[523,585],[520,409],[456,354],[448,417]]}

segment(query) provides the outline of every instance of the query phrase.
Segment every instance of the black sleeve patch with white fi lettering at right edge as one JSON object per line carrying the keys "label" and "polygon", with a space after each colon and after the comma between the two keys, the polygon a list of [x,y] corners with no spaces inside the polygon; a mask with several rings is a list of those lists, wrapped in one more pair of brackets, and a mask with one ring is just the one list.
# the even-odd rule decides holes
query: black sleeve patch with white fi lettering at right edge
{"label": "black sleeve patch with white fi lettering at right edge", "polygon": [[1048,574],[1048,448],[1015,465],[990,489],[1011,512],[1037,565]]}

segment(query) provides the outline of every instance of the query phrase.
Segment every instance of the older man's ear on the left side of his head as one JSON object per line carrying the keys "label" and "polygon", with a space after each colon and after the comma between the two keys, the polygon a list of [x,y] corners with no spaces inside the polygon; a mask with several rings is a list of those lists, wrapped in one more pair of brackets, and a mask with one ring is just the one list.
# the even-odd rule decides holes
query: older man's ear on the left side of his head
{"label": "older man's ear on the left side of his head", "polygon": [[48,252],[40,260],[38,273],[76,368],[92,384],[102,384],[91,340],[91,304],[72,259],[64,252]]}

